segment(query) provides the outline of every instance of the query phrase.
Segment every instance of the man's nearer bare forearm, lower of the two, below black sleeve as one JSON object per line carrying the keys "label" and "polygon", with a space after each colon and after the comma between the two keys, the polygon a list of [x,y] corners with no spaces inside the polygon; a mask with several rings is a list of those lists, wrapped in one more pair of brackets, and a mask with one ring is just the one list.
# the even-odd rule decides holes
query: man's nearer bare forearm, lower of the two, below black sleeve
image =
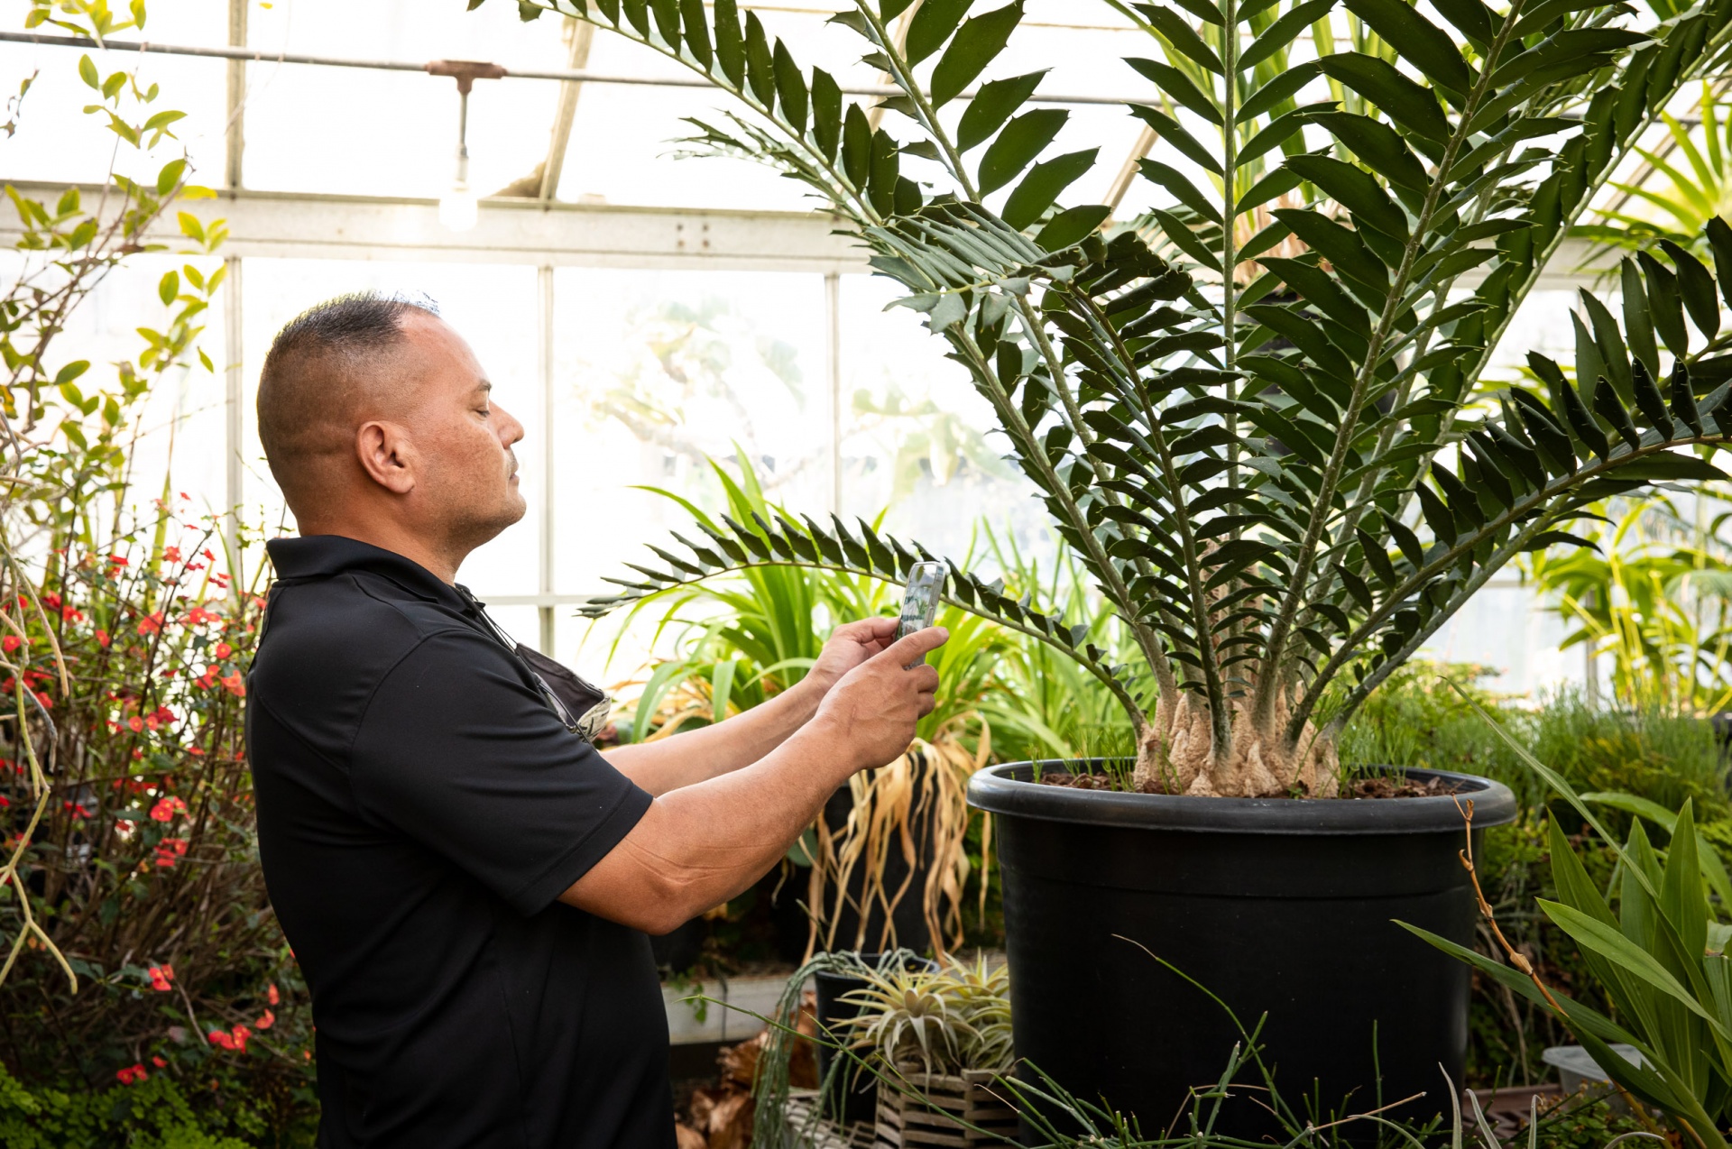
{"label": "man's nearer bare forearm, lower of the two, below black sleeve", "polygon": [[561,902],[667,933],[769,872],[850,772],[845,732],[811,723],[745,768],[656,798]]}

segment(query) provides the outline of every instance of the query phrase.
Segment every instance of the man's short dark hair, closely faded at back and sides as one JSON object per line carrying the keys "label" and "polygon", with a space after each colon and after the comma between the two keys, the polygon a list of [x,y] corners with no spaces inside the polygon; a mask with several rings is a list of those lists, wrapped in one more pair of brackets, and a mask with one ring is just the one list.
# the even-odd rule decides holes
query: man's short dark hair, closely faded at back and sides
{"label": "man's short dark hair, closely faded at back and sides", "polygon": [[307,308],[277,332],[258,376],[258,438],[277,483],[289,493],[294,459],[317,414],[329,414],[348,391],[360,360],[404,341],[404,317],[438,315],[426,296],[355,291]]}

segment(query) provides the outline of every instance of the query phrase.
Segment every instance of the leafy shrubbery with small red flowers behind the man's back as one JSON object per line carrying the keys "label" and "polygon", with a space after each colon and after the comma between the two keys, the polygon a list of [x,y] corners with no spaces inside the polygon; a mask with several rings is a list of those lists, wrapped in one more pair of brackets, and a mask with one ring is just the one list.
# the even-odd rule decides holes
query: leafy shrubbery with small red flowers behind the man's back
{"label": "leafy shrubbery with small red flowers behind the man's back", "polygon": [[[142,0],[128,12],[38,0],[28,24],[100,40],[144,26]],[[142,350],[111,381],[64,353],[90,291],[125,260],[168,251],[147,230],[201,190],[184,151],[152,152],[182,118],[152,107],[156,85],[102,76],[90,57],[78,74],[92,123],[120,140],[102,202],[7,189],[23,234],[0,299],[5,1137],[305,1142],[312,1019],[258,872],[242,749],[263,607],[237,574],[248,540],[177,512],[166,476],[144,510],[156,491],[132,486],[152,388],[213,370],[199,337],[227,228],[178,213],[184,258],[158,280],[165,318],[139,327]]]}

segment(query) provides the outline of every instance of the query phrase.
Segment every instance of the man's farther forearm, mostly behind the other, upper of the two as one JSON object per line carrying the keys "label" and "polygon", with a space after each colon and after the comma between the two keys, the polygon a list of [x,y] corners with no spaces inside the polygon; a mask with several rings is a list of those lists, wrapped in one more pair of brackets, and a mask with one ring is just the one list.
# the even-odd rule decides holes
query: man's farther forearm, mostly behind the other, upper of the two
{"label": "man's farther forearm, mostly behind the other, upper of the two", "polygon": [[800,682],[712,727],[617,746],[603,751],[603,758],[651,794],[669,794],[762,760],[811,720],[819,701],[823,692]]}

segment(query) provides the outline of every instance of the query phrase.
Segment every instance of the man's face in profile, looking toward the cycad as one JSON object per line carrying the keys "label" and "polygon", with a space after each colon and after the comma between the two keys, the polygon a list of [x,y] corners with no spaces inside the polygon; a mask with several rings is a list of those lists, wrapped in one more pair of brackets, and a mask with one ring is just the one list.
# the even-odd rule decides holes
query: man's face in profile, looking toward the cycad
{"label": "man's face in profile, looking toward the cycad", "polygon": [[407,426],[419,455],[416,495],[430,530],[480,547],[523,517],[511,446],[523,424],[492,400],[475,351],[433,315],[404,318],[404,379],[412,388]]}

